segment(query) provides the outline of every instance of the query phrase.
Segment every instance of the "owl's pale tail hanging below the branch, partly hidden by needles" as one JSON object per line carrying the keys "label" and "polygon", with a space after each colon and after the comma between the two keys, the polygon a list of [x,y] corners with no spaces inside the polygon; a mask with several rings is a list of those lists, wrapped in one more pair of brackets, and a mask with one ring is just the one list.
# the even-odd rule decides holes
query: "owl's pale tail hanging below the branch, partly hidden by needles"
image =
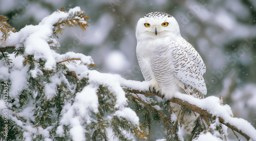
{"label": "owl's pale tail hanging below the branch, partly hidden by needles", "polygon": [[[173,103],[173,102],[170,102],[170,106],[172,106],[174,114],[178,117],[181,106],[179,104],[176,104],[176,103]],[[178,120],[179,120],[179,123],[180,123],[181,116],[179,115],[178,118],[179,118]],[[197,117],[194,114],[193,115],[185,115],[183,117],[183,123],[182,124],[183,124],[184,129],[187,133],[190,134],[191,131],[193,130],[194,122],[195,122],[196,118]]]}

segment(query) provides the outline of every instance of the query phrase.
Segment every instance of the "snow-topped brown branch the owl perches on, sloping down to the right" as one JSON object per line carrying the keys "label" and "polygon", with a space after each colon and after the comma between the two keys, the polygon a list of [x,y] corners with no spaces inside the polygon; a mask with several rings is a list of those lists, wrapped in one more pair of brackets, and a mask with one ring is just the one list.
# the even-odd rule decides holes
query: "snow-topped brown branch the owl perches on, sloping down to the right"
{"label": "snow-topped brown branch the owl perches on, sloping down to the right", "polygon": [[[129,93],[134,93],[134,94],[143,94],[145,96],[152,96],[152,95],[159,96],[155,93],[151,93],[150,91],[139,91],[139,90],[131,90],[131,89],[125,89],[125,91]],[[182,96],[179,96],[179,95],[182,95]],[[174,97],[169,101],[177,103],[182,107],[186,107],[187,109],[190,109],[194,112],[197,112],[199,115],[202,115],[204,117],[211,118],[211,119],[218,118],[220,123],[224,124],[225,126],[227,126],[233,131],[237,131],[238,133],[243,135],[247,140],[249,140],[250,138],[252,138],[253,140],[256,139],[254,136],[256,134],[256,130],[254,129],[254,127],[244,119],[233,118],[232,115],[229,115],[231,113],[230,107],[228,105],[222,105],[221,99],[220,101],[218,101],[216,97],[208,97],[206,99],[199,100],[185,94],[178,94],[176,96],[179,98]],[[159,97],[161,98],[161,96]],[[183,97],[185,98],[183,99]],[[189,101],[190,102],[193,101],[191,102],[193,104],[189,103]],[[194,101],[198,101],[198,102],[194,102]],[[212,101],[217,101],[217,102],[212,102]],[[198,103],[207,103],[207,105],[204,106],[203,104],[198,104]],[[201,107],[199,107],[198,105]],[[211,106],[208,106],[208,105],[211,105]]]}

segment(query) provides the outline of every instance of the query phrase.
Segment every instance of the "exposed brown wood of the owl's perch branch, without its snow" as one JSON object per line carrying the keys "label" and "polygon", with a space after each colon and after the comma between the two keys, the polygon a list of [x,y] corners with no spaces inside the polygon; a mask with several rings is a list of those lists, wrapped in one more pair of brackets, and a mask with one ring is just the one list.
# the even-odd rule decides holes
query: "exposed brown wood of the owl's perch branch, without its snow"
{"label": "exposed brown wood of the owl's perch branch, without its snow", "polygon": [[[159,96],[157,94],[151,93],[150,91],[139,91],[139,90],[131,90],[131,89],[125,89],[125,91],[129,92],[129,93],[133,93],[133,94],[142,94],[142,95],[145,95],[145,96]],[[159,96],[159,97],[161,97],[161,96]],[[186,107],[186,108],[188,108],[188,109],[190,109],[194,112],[197,112],[199,115],[201,115],[203,117],[207,117],[207,118],[210,118],[210,119],[215,119],[216,118],[215,115],[210,114],[207,110],[202,109],[200,107],[197,107],[196,105],[190,104],[187,101],[181,100],[179,98],[172,98],[172,99],[170,99],[170,102],[177,103],[177,104],[181,105],[182,107]],[[230,123],[226,122],[221,117],[218,117],[218,118],[220,120],[220,123],[224,124],[225,126],[230,128],[231,130],[240,133],[247,140],[250,139],[250,137],[246,133],[244,133],[242,130],[239,130],[236,126],[231,125]]]}

